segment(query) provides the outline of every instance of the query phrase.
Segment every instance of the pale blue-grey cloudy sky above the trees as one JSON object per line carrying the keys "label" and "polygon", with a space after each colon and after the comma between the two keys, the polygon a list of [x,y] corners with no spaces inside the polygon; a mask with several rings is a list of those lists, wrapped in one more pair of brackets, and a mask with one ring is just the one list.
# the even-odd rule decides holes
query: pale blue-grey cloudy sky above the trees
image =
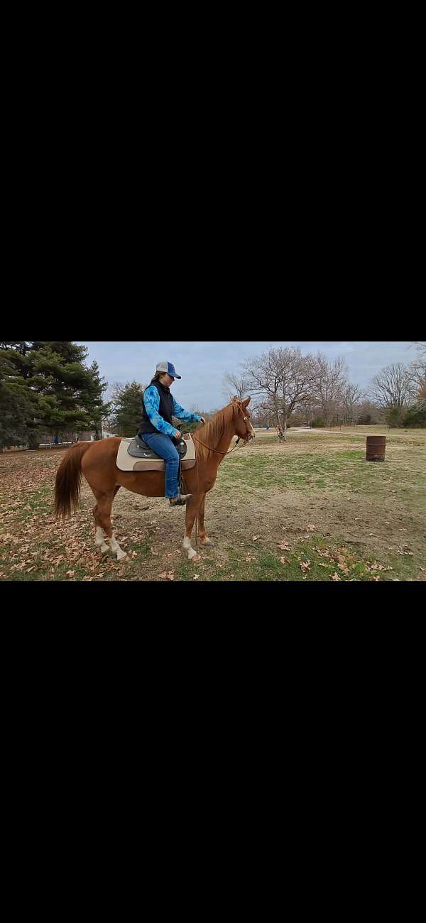
{"label": "pale blue-grey cloudy sky above the trees", "polygon": [[411,341],[156,341],[83,342],[89,362],[99,363],[101,375],[111,386],[115,381],[137,381],[147,385],[159,362],[172,362],[182,381],[172,385],[172,394],[186,410],[213,410],[226,402],[222,393],[225,372],[239,371],[244,359],[265,352],[269,346],[300,346],[302,354],[324,353],[327,359],[343,356],[349,366],[349,380],[366,387],[383,366],[395,362],[407,365],[416,358]]}

